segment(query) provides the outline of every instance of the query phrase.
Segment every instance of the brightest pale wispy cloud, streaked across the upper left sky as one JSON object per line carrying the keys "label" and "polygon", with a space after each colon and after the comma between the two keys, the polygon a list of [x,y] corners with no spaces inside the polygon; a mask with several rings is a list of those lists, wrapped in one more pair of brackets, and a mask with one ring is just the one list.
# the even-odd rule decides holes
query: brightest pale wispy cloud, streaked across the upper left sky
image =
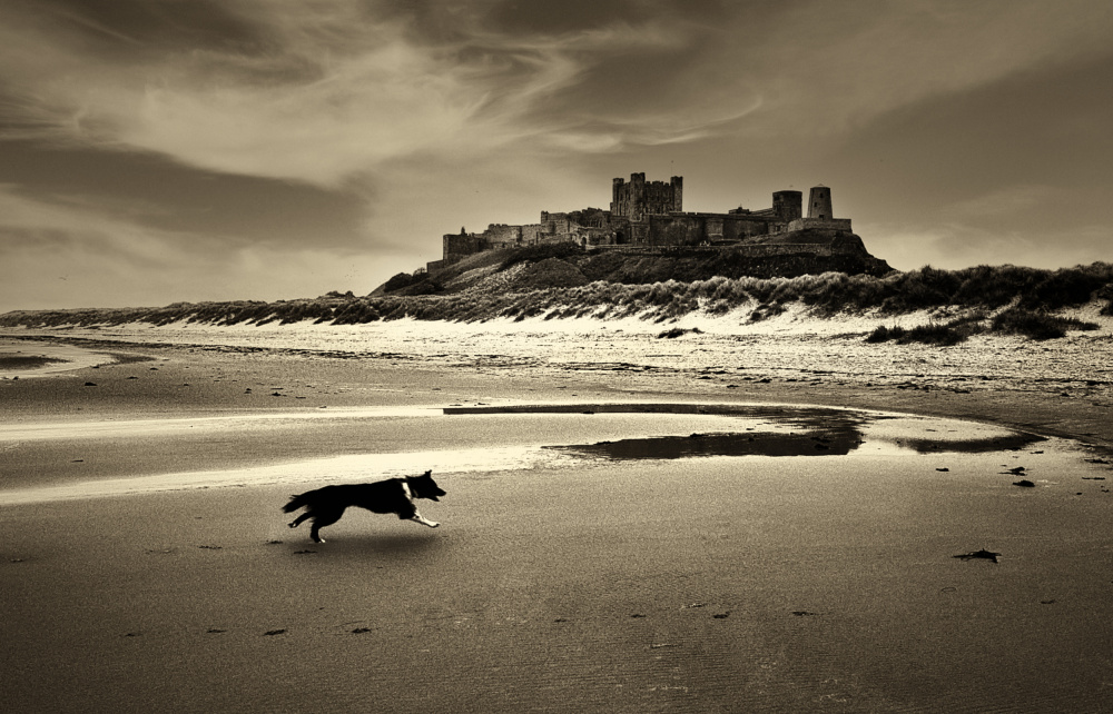
{"label": "brightest pale wispy cloud, streaked across the upper left sky", "polygon": [[[523,140],[564,150],[567,118],[528,120],[539,102],[601,52],[677,41],[664,28],[620,24],[532,41],[462,28],[462,37],[429,44],[400,20],[366,18],[357,7],[242,4],[275,51],[178,52],[135,67],[98,62],[42,28],[39,37],[24,31],[4,42],[4,79],[20,97],[8,107],[18,127],[9,136],[336,185],[416,153],[479,153]],[[32,60],[43,52],[45,66]],[[599,150],[591,145],[583,143]]]}

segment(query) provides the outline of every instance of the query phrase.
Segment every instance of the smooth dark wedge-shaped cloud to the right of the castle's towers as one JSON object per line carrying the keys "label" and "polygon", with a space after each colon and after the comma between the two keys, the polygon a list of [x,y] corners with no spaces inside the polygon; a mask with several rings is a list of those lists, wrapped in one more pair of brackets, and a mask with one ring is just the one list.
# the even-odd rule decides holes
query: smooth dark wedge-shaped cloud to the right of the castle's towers
{"label": "smooth dark wedge-shaped cloud to the right of the castle's towers", "polygon": [[894,200],[930,208],[1002,186],[1109,186],[1113,136],[1097,118],[1110,116],[1105,57],[902,107],[858,129],[833,159]]}

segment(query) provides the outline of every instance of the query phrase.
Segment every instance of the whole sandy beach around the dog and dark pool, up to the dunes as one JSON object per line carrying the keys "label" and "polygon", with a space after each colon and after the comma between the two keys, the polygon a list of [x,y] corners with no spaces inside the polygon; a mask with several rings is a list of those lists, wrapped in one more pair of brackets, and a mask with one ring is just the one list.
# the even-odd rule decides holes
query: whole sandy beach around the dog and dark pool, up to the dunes
{"label": "whole sandy beach around the dog and dark pool, up to the dunes", "polygon": [[[1113,495],[1109,466],[1083,462],[1113,445],[1100,341],[391,329],[280,349],[247,330],[120,330],[75,343],[115,360],[0,381],[0,499],[48,489],[0,505],[6,708],[1106,708]],[[529,440],[505,422],[429,433],[427,407],[631,399],[877,408],[1090,446],[464,470],[422,508],[441,528],[353,513],[321,546],[278,513],[322,483],[308,459]],[[49,492],[289,464],[303,483]],[[1017,464],[1040,487],[1001,474]],[[978,548],[1001,562],[953,557]]]}

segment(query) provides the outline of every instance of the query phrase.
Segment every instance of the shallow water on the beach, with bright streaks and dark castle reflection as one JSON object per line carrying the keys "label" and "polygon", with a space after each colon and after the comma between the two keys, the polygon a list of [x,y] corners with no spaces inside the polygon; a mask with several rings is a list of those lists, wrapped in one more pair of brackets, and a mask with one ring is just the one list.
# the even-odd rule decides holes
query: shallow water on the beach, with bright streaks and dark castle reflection
{"label": "shallow water on the beach, with bright streaks and dark castle reflection", "polygon": [[[253,430],[286,426],[295,429],[290,438],[306,438],[308,425],[326,422],[373,429],[382,440],[375,442],[377,448],[365,446],[371,450],[363,453],[293,458],[265,466],[148,473],[0,489],[0,504],[277,483],[364,482],[371,475],[381,478],[426,469],[439,475],[530,472],[558,477],[568,468],[686,458],[914,459],[924,454],[996,454],[1044,438],[971,422],[831,407],[565,403],[449,407],[444,414],[434,408],[406,407],[107,424],[22,424],[0,430],[0,443],[35,445],[82,439],[109,444],[120,443],[121,434],[127,434],[130,438],[141,436],[151,448],[159,444],[156,450],[165,452],[188,438],[200,437],[204,445],[211,434],[229,428],[249,438]],[[410,440],[392,440],[388,433],[405,434]],[[483,440],[477,443],[480,434]],[[433,435],[451,438],[437,442]],[[588,440],[591,437],[598,440]],[[417,444],[423,448],[413,448]]]}

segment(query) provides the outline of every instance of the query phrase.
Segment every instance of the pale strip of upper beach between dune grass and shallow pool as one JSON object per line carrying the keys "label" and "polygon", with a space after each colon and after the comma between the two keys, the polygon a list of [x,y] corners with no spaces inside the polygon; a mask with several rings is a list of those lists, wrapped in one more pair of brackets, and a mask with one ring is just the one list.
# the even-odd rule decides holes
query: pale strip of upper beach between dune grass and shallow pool
{"label": "pale strip of upper beach between dune grass and shallow pool", "polygon": [[[406,335],[406,327],[392,329],[393,333]],[[482,327],[480,327],[482,330]],[[452,331],[459,331],[459,326],[453,326]],[[673,357],[662,357],[659,350],[663,347],[677,345],[677,340],[661,340],[648,335],[630,336],[628,341],[634,343],[632,348],[615,350],[620,354],[610,355],[607,349],[599,349],[595,359],[581,359],[571,361],[560,357],[549,356],[544,360],[525,361],[514,350],[506,350],[506,340],[500,339],[498,331],[492,331],[485,339],[477,339],[473,343],[457,343],[456,353],[444,353],[432,350],[434,354],[404,354],[400,351],[386,353],[357,353],[344,351],[336,346],[327,345],[322,349],[307,349],[292,346],[266,347],[263,344],[173,344],[166,341],[144,343],[128,339],[131,336],[122,336],[111,339],[106,336],[87,335],[13,335],[10,331],[0,331],[0,339],[9,337],[21,341],[46,340],[47,344],[56,343],[71,345],[90,351],[104,354],[124,353],[116,355],[116,359],[150,360],[152,367],[148,370],[160,368],[161,360],[169,359],[168,356],[180,358],[188,356],[190,359],[203,363],[203,356],[220,356],[243,359],[250,370],[242,370],[243,374],[228,376],[226,379],[239,379],[248,381],[253,379],[255,389],[259,387],[282,386],[279,383],[289,383],[288,376],[284,374],[282,363],[290,360],[290,364],[298,366],[312,366],[318,371],[326,374],[326,380],[332,381],[335,389],[327,399],[311,400],[305,394],[293,394],[283,389],[278,394],[294,396],[301,401],[296,408],[327,408],[328,406],[345,407],[377,407],[377,406],[417,406],[415,398],[423,396],[427,401],[422,406],[451,406],[451,399],[479,400],[484,398],[512,398],[516,395],[529,397],[532,394],[549,395],[549,400],[570,398],[569,390],[579,389],[590,394],[617,395],[633,398],[662,397],[666,400],[672,397],[687,397],[691,399],[711,399],[732,401],[769,401],[786,404],[814,404],[816,406],[845,406],[850,408],[865,408],[874,410],[894,410],[908,414],[922,414],[924,416],[956,417],[999,424],[1022,430],[1031,430],[1047,436],[1061,438],[1073,438],[1092,445],[1104,454],[1113,455],[1113,420],[1107,415],[1113,409],[1113,369],[1099,367],[1097,370],[1078,367],[1075,369],[1068,360],[1060,358],[1058,366],[1050,376],[1032,377],[1028,380],[1015,377],[1002,377],[998,374],[955,375],[954,369],[924,369],[923,371],[903,370],[896,374],[884,374],[877,368],[877,360],[869,360],[866,366],[854,364],[840,364],[841,368],[815,369],[806,366],[789,366],[788,355],[797,347],[798,337],[781,337],[785,345],[780,349],[769,350],[771,354],[758,364],[752,366],[732,368],[728,363],[732,357],[737,357],[736,351],[722,349],[722,343],[715,345],[718,348],[717,355],[711,358],[705,357],[701,364],[686,364],[686,359],[692,356],[690,346],[673,353]],[[216,337],[220,337],[219,331]],[[598,340],[598,335],[595,338]],[[703,337],[703,336],[700,336]],[[400,344],[407,344],[412,340],[407,337],[392,336],[391,347]],[[417,338],[420,339],[420,337]],[[437,336],[439,344],[444,341],[443,336]],[[776,336],[766,336],[767,344],[776,343]],[[1087,338],[1090,339],[1090,338]],[[247,340],[240,340],[246,343]],[[257,340],[256,340],[257,341]],[[699,345],[696,339],[692,343]],[[848,341],[848,340],[847,340]],[[998,340],[1002,341],[1002,340]],[[1013,340],[1004,340],[1001,351],[1008,353],[1016,348]],[[1020,341],[1020,340],[1015,340]],[[1062,340],[1056,340],[1062,341]],[[1091,347],[1093,346],[1092,339]],[[1109,350],[1113,356],[1113,340],[1099,338],[1096,340],[1101,347]],[[1041,344],[1023,344],[1030,351],[1045,351],[1053,349]],[[343,347],[351,348],[351,345]],[[485,351],[493,347],[502,347],[510,354],[499,355]],[[595,349],[598,344],[592,345]],[[858,353],[859,356],[869,355],[876,350],[876,346],[865,344],[853,345],[849,351]],[[698,349],[698,348],[697,348]],[[928,348],[923,346],[885,346],[885,350],[895,355],[893,361],[912,363],[924,359],[925,353],[934,353],[936,356],[945,355],[944,361],[952,364],[963,356],[963,346],[951,348]],[[431,350],[425,350],[429,353]],[[518,349],[521,351],[521,348]],[[705,351],[712,351],[711,349]],[[130,355],[130,356],[129,356]],[[1095,361],[1100,364],[1103,354],[1099,354]],[[615,359],[620,357],[637,361]],[[638,359],[640,357],[640,359]],[[716,361],[718,358],[718,361]],[[709,364],[716,363],[716,364]],[[245,366],[246,366],[245,365]],[[142,375],[141,367],[136,365],[134,375]],[[199,368],[195,366],[194,369]],[[57,368],[57,367],[56,367]],[[97,368],[78,366],[68,371],[57,371],[51,375],[52,379],[85,379],[95,378]],[[254,374],[249,374],[254,370]],[[288,371],[288,369],[286,369]],[[363,371],[372,375],[375,387],[368,389],[362,384],[358,377],[353,377],[353,371]],[[948,374],[949,373],[949,374]],[[444,378],[451,375],[453,380]],[[156,375],[142,375],[147,379]],[[162,377],[164,375],[157,375]],[[176,373],[175,377],[187,379],[190,375],[186,371]],[[166,379],[159,389],[158,398],[174,398],[190,410],[199,409],[198,414],[216,411],[225,414],[229,409],[243,409],[244,413],[255,413],[257,410],[274,410],[276,407],[288,408],[286,404],[259,404],[255,399],[246,404],[244,399],[232,394],[215,394],[216,390],[209,388],[206,397],[201,399],[181,399],[181,389],[177,393],[166,386]],[[445,386],[436,387],[433,383],[455,381],[470,386],[467,390],[447,389]],[[564,381],[565,384],[559,384]],[[266,384],[264,384],[266,383]],[[270,384],[274,383],[274,384]],[[538,386],[543,383],[543,386]],[[0,381],[2,385],[3,381]],[[189,384],[183,381],[181,384]],[[189,387],[198,388],[206,385],[189,384]],[[447,390],[446,390],[447,389]],[[70,390],[71,393],[73,390]],[[474,394],[473,394],[474,393]],[[275,394],[272,391],[270,394]],[[329,404],[323,404],[328,401]],[[26,410],[21,405],[12,404],[17,418],[27,418],[32,415],[52,416],[51,409],[29,407]],[[121,406],[111,399],[101,400],[100,408],[106,408],[109,414],[121,409]],[[144,409],[150,408],[149,405]]]}

